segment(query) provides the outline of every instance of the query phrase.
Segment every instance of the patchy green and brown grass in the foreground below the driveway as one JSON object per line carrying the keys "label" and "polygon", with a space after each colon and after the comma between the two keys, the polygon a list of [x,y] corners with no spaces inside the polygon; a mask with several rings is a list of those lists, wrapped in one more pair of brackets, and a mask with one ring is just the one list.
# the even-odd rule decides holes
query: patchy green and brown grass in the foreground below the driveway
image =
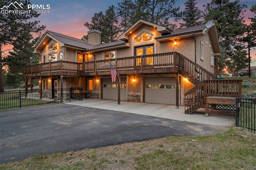
{"label": "patchy green and brown grass in the foreground below the driveway", "polygon": [[256,169],[256,134],[231,127],[206,136],[166,137],[0,165],[0,170]]}

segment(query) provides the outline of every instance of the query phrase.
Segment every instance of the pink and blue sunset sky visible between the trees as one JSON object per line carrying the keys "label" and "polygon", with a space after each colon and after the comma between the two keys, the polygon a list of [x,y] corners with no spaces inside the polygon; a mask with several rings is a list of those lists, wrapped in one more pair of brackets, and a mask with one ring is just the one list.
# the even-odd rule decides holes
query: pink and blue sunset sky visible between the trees
{"label": "pink and blue sunset sky visible between the trees", "polygon": [[[118,6],[118,2],[122,0],[30,0],[31,4],[44,5],[50,4],[49,14],[41,14],[36,20],[40,20],[41,25],[46,26],[46,30],[58,32],[75,38],[82,38],[87,35],[88,29],[84,23],[90,22],[94,13],[100,11],[105,14],[109,6]],[[184,10],[186,0],[178,0],[176,6],[180,6],[180,10]],[[197,0],[198,7],[202,10],[203,5],[210,0]],[[254,17],[254,13],[250,12],[250,8],[256,4],[255,0],[240,0],[240,3],[246,3],[248,9],[244,14],[244,18],[249,23],[248,17]],[[252,58],[256,59],[256,50],[251,51]]]}

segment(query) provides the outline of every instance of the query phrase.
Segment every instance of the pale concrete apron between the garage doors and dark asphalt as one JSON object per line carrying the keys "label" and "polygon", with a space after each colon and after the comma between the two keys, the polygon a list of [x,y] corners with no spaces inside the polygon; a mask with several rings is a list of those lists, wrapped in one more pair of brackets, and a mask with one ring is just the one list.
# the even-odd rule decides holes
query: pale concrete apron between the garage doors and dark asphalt
{"label": "pale concrete apron between the garage doors and dark asphalt", "polygon": [[230,113],[227,111],[212,109],[209,109],[209,117],[205,117],[205,109],[199,109],[196,113],[193,113],[192,115],[187,115],[184,114],[184,107],[182,106],[180,106],[179,109],[176,109],[175,105],[164,105],[155,103],[121,101],[120,105],[118,105],[117,101],[114,100],[83,99],[83,101],[71,102],[66,104],[112,111],[121,111],[139,115],[148,115],[152,117],[201,123],[214,126],[231,126],[235,124],[234,112]]}

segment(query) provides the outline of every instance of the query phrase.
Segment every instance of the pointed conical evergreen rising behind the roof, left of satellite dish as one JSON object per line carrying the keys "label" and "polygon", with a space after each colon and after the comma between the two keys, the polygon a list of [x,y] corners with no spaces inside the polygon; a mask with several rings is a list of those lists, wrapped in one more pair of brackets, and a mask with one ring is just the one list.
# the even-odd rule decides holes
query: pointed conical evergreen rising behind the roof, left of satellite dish
{"label": "pointed conical evergreen rising behind the roof, left of satellite dish", "polygon": [[180,28],[198,26],[203,23],[202,11],[196,7],[196,0],[187,0],[185,10],[182,12],[182,20],[185,23],[180,23]]}

